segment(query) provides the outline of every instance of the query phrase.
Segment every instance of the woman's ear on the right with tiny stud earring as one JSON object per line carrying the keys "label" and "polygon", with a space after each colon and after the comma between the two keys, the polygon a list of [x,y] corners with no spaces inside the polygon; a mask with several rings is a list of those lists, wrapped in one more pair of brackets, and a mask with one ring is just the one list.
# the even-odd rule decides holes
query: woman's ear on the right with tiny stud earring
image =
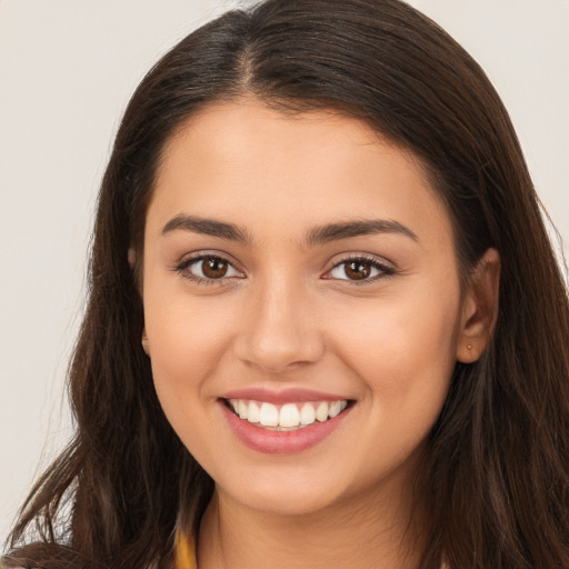
{"label": "woman's ear on the right with tiny stud earring", "polygon": [[486,350],[498,318],[500,254],[488,249],[468,279],[462,300],[457,360],[477,361]]}

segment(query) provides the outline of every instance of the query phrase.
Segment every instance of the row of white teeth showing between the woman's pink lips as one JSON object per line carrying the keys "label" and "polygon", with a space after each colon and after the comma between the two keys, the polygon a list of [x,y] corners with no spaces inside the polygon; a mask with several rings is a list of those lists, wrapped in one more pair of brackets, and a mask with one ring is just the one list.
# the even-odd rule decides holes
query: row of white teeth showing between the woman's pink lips
{"label": "row of white teeth showing between the woman's pink lips", "polygon": [[250,399],[223,399],[237,417],[254,427],[272,431],[295,431],[322,423],[343,412],[353,401],[306,401],[273,405]]}

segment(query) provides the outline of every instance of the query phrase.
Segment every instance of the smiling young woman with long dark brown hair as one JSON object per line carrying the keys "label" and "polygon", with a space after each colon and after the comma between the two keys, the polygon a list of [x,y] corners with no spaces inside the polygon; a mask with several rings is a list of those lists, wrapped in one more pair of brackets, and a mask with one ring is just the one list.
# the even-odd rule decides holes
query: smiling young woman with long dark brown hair
{"label": "smiling young woman with long dark brown hair", "polygon": [[498,96],[406,4],[180,42],[90,278],[8,567],[569,566],[567,291]]}

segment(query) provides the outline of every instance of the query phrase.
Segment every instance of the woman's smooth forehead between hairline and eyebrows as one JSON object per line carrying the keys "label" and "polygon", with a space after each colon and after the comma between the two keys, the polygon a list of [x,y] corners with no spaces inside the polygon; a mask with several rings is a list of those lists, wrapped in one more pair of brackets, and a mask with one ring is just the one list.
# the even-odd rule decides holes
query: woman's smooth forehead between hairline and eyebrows
{"label": "woman's smooth forehead between hairline and eyebrows", "polygon": [[410,151],[335,111],[284,114],[256,101],[211,104],[169,140],[149,217],[181,212],[214,213],[252,232],[379,216],[451,233]]}

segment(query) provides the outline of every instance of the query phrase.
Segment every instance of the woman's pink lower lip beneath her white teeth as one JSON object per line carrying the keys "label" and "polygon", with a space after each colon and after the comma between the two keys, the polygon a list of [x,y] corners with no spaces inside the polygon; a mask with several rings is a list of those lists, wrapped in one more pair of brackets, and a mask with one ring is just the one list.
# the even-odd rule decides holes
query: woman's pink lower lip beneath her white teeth
{"label": "woman's pink lower lip beneath her white teeth", "polygon": [[272,431],[240,419],[223,401],[220,401],[220,406],[237,438],[247,447],[267,455],[288,455],[315,447],[328,438],[351,410],[348,407],[333,419],[313,422],[295,431]]}

